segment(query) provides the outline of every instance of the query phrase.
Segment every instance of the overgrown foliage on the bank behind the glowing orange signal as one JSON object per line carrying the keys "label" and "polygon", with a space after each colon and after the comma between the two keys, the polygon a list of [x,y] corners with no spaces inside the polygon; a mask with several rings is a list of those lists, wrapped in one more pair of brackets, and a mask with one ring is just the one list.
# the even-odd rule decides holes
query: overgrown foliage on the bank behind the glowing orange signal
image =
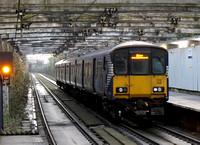
{"label": "overgrown foliage on the bank behind the glowing orange signal", "polygon": [[26,58],[13,54],[14,69],[11,76],[12,94],[10,97],[9,114],[4,115],[4,131],[16,131],[25,117],[29,75]]}

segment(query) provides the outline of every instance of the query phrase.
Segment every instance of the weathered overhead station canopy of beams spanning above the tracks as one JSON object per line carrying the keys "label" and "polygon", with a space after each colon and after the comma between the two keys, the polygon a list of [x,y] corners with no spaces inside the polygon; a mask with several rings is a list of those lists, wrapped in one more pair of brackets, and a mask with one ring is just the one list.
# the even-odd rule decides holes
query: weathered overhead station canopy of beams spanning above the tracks
{"label": "weathered overhead station canopy of beams spanning above the tracks", "polygon": [[198,0],[0,1],[1,41],[22,54],[82,55],[129,40],[199,34]]}

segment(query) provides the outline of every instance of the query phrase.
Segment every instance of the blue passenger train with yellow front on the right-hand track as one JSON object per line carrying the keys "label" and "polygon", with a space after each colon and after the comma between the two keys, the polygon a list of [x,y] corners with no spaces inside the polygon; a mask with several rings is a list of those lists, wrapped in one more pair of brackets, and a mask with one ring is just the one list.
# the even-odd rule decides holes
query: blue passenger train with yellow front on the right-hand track
{"label": "blue passenger train with yellow front on the right-hand track", "polygon": [[113,118],[164,115],[168,51],[147,42],[123,42],[57,62],[55,78],[65,90],[98,100]]}

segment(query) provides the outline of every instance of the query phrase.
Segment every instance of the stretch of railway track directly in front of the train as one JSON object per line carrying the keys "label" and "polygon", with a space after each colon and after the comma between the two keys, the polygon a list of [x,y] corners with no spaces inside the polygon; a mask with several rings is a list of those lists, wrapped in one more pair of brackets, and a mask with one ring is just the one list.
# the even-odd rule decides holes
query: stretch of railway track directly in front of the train
{"label": "stretch of railway track directly in front of the train", "polygon": [[191,137],[190,135],[176,131],[175,129],[169,128],[165,125],[158,123],[153,123],[151,127],[148,128],[138,128],[131,127],[130,124],[121,123],[120,124],[125,130],[134,134],[147,144],[159,145],[199,145],[200,140]]}

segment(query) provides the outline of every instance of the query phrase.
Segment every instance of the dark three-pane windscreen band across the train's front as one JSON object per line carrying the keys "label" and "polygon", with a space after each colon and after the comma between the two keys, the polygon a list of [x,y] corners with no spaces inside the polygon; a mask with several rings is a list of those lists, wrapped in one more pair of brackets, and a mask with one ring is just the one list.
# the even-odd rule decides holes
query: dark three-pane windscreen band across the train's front
{"label": "dark three-pane windscreen band across the train's front", "polygon": [[114,53],[114,72],[116,75],[165,74],[165,50],[157,48],[127,48]]}

